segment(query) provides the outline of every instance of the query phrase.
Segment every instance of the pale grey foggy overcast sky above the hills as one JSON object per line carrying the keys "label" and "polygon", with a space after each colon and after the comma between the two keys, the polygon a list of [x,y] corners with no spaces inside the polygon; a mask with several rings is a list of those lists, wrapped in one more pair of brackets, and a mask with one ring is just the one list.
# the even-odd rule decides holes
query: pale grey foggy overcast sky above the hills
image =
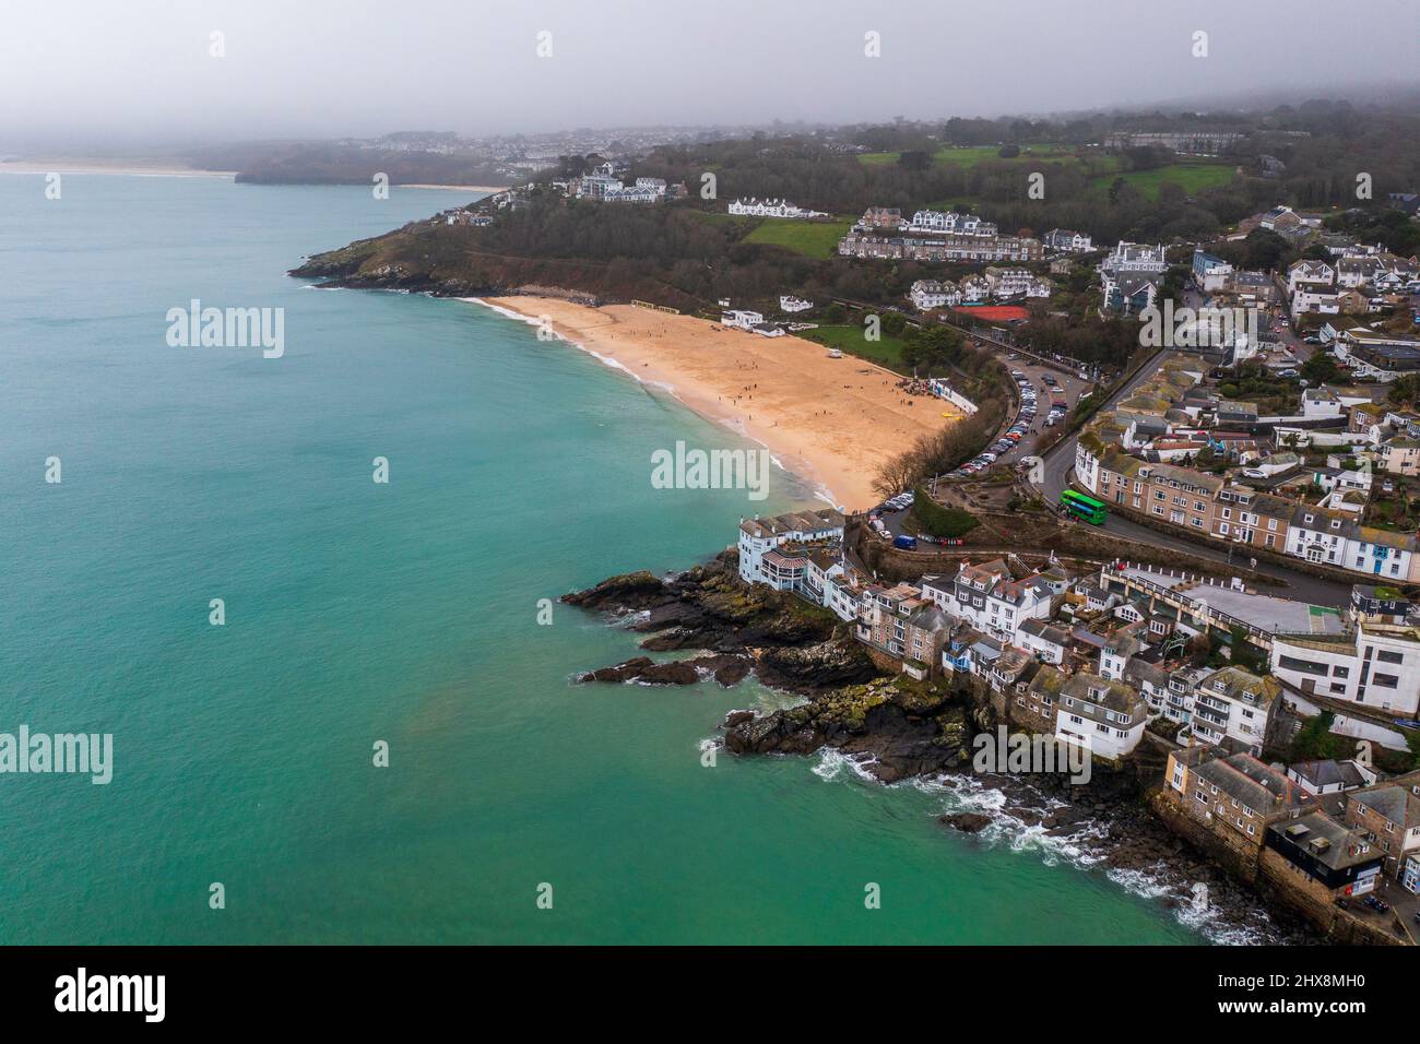
{"label": "pale grey foggy overcast sky above the hills", "polygon": [[[1414,84],[1417,0],[10,0],[0,143],[885,121]],[[537,36],[551,33],[551,57]],[[1193,34],[1208,34],[1206,58]],[[224,34],[226,57],[209,54]],[[876,31],[882,57],[863,54]]]}

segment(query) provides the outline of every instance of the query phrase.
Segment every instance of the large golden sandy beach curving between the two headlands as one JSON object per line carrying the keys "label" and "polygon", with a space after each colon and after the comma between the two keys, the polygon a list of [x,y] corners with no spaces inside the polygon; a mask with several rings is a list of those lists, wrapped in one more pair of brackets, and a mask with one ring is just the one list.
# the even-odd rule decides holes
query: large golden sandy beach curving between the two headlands
{"label": "large golden sandy beach curving between the two headlands", "polygon": [[822,345],[797,337],[760,337],[629,304],[591,308],[547,297],[487,304],[547,315],[568,341],[669,386],[686,406],[763,443],[849,510],[876,503],[872,480],[883,460],[958,416],[940,399],[909,398],[890,371],[846,355],[832,359]]}

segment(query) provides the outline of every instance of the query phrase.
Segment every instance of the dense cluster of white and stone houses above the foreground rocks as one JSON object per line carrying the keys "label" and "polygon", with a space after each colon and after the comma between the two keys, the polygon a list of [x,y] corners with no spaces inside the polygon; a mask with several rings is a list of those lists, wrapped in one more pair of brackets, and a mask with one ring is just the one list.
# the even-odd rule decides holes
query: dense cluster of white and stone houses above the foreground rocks
{"label": "dense cluster of white and stone houses above the foreground rocks", "polygon": [[1414,945],[1420,604],[1356,584],[1311,605],[1054,554],[886,581],[852,530],[834,510],[747,518],[738,574],[834,612],[889,675],[1152,773],[1143,800],[1172,831],[1328,937]]}

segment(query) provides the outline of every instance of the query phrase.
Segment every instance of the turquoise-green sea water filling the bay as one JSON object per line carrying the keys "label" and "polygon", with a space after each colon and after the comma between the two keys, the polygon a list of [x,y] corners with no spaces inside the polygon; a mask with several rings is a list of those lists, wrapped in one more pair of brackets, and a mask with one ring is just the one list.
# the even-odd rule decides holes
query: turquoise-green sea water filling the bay
{"label": "turquoise-green sea water filling the bay", "polygon": [[[0,776],[0,942],[1206,940],[939,787],[703,766],[753,682],[572,683],[635,635],[540,599],[812,490],[653,490],[653,450],[744,443],[476,304],[284,276],[466,197],[43,187],[0,176],[0,732],[112,733],[114,778]],[[284,357],[169,347],[190,298],[284,308]]]}

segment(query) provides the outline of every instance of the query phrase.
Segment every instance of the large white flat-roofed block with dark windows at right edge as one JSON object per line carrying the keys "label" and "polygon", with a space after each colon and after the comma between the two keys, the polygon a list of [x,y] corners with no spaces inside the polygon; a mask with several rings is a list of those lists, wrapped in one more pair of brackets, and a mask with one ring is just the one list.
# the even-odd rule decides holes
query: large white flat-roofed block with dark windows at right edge
{"label": "large white flat-roofed block with dark windows at right edge", "polygon": [[1277,635],[1272,675],[1304,693],[1358,703],[1397,717],[1420,705],[1420,626],[1360,616],[1349,635]]}

